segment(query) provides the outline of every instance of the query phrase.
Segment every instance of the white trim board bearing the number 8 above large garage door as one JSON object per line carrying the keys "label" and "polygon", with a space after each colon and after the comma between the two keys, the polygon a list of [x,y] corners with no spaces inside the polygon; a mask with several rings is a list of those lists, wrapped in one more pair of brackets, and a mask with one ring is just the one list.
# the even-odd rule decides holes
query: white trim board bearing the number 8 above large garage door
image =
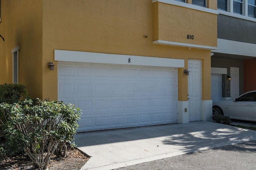
{"label": "white trim board bearing the number 8 above large garage door", "polygon": [[[130,63],[128,62],[129,59]],[[54,50],[54,60],[84,63],[126,64],[184,68],[184,59],[167,59],[159,57],[143,57],[135,55],[90,53],[66,50]]]}

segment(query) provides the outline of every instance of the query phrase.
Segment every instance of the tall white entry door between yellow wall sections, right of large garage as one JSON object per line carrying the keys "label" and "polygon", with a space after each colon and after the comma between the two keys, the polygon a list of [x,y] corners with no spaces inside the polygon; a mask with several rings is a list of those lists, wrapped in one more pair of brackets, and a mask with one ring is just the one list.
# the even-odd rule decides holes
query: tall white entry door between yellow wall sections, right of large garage
{"label": "tall white entry door between yellow wall sections, right of large garage", "polygon": [[188,60],[188,107],[189,121],[201,120],[202,82],[201,61]]}

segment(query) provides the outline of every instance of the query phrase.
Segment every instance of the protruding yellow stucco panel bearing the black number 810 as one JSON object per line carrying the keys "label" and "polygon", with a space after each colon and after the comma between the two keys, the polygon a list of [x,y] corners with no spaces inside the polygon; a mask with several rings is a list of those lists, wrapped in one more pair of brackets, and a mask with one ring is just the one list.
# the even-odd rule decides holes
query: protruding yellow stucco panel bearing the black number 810
{"label": "protruding yellow stucco panel bearing the black number 810", "polygon": [[217,47],[216,14],[160,2],[153,6],[154,40]]}

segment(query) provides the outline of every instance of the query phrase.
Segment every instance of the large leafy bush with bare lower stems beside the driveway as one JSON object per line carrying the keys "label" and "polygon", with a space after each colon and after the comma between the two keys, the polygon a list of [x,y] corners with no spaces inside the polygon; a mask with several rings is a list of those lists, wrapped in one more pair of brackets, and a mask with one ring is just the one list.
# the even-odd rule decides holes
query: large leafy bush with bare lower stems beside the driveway
{"label": "large leafy bush with bare lower stems beside the driveway", "polygon": [[80,109],[58,101],[38,99],[34,105],[32,100],[24,100],[0,104],[0,109],[6,117],[4,131],[9,146],[23,149],[40,170],[47,168],[56,149],[60,153],[66,142],[71,143],[80,118]]}

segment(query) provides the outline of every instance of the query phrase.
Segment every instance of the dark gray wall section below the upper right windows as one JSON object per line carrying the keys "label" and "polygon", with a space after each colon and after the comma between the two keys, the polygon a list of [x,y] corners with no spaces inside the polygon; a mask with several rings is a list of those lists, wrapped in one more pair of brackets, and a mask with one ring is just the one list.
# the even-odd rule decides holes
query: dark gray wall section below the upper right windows
{"label": "dark gray wall section below the upper right windows", "polygon": [[219,14],[218,38],[256,44],[256,22]]}

